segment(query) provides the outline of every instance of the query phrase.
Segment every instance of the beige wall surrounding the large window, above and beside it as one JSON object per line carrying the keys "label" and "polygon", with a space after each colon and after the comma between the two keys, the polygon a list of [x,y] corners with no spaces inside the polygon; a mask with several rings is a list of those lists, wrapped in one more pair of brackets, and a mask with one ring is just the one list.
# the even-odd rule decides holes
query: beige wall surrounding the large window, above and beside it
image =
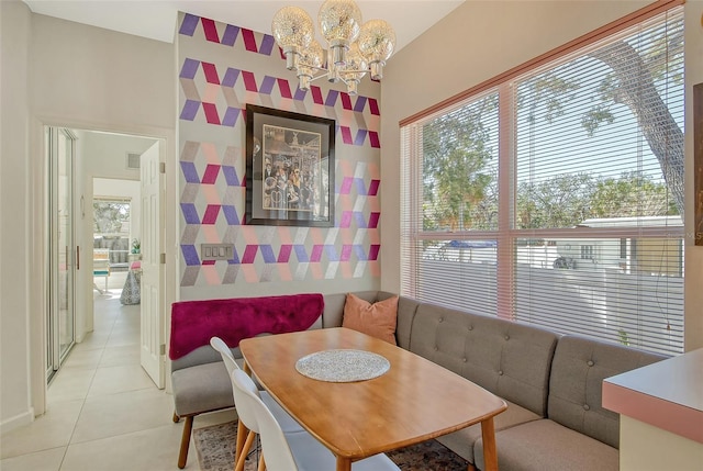
{"label": "beige wall surrounding the large window, above and beside it", "polygon": [[[649,3],[635,0],[467,1],[391,57],[381,89],[381,289],[400,290],[399,169],[405,164],[400,161],[399,122]],[[702,4],[700,0],[690,0],[685,5],[689,83],[703,81]],[[687,122],[691,122],[690,116]],[[688,133],[688,165],[692,165],[691,160],[692,133]],[[692,178],[687,182],[689,195],[692,195]],[[699,289],[703,280],[703,249],[687,247],[685,268],[685,348],[690,350],[703,346],[700,310],[703,291]]]}

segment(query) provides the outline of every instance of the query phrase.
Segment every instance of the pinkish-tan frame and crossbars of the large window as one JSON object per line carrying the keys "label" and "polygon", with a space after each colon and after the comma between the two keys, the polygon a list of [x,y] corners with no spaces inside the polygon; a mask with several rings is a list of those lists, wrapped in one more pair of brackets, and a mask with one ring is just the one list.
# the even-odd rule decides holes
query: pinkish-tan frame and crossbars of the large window
{"label": "pinkish-tan frame and crossbars of the large window", "polygon": [[[555,238],[577,238],[582,237],[582,233],[574,228],[539,228],[523,229],[516,228],[514,208],[517,194],[517,157],[516,157],[516,112],[514,109],[515,93],[513,83],[520,78],[534,74],[546,65],[554,66],[559,60],[563,60],[569,55],[577,52],[582,53],[589,46],[609,37],[613,37],[620,32],[644,23],[647,20],[665,13],[676,7],[683,4],[683,0],[667,0],[652,3],[629,15],[610,23],[599,30],[585,34],[568,44],[565,44],[551,52],[538,56],[518,67],[507,70],[492,79],[489,79],[476,87],[472,87],[455,97],[451,97],[434,106],[420,113],[409,116],[400,122],[401,156],[412,156],[412,160],[403,169],[401,184],[401,211],[410,211],[413,216],[401,215],[401,260],[409,267],[401,267],[401,294],[417,296],[417,267],[416,260],[421,250],[421,243],[429,240],[453,240],[453,239],[494,239],[499,240],[496,253],[496,280],[498,299],[496,315],[509,319],[516,317],[516,266],[515,256],[518,239],[555,239]],[[422,126],[433,117],[447,115],[457,106],[467,105],[470,100],[478,99],[490,92],[498,92],[499,97],[499,150],[498,150],[498,199],[499,218],[495,231],[423,231],[422,228],[422,192],[423,192],[423,166],[422,166],[422,142],[417,138],[422,134]],[[417,149],[420,148],[420,150]],[[502,197],[507,195],[507,198]],[[420,226],[420,227],[419,227]],[[683,238],[685,231],[683,226],[633,226],[633,227],[591,227],[589,236],[593,238],[607,239],[640,239],[640,238]],[[405,243],[410,240],[410,243]],[[591,257],[595,253],[595,247],[591,246]],[[681,259],[683,266],[683,259]],[[681,348],[683,343],[681,343]]]}

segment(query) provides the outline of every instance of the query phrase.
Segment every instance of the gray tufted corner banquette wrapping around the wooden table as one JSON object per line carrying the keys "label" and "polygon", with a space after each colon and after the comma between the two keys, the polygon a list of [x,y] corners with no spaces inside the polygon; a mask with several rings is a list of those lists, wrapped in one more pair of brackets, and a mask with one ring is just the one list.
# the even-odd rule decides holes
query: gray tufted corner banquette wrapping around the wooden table
{"label": "gray tufted corner banquette wrapping around the wooden table", "polygon": [[[355,294],[368,302],[394,295]],[[345,300],[346,293],[326,294],[322,318],[311,328],[342,326]],[[395,337],[401,348],[505,400],[507,410],[494,419],[501,471],[617,470],[620,418],[601,405],[602,381],[665,358],[404,296],[399,299]],[[241,358],[238,348],[232,351]],[[210,346],[175,361],[171,380],[181,416],[233,406],[225,368]],[[176,394],[177,383],[188,394]],[[437,439],[482,469],[480,425]]]}

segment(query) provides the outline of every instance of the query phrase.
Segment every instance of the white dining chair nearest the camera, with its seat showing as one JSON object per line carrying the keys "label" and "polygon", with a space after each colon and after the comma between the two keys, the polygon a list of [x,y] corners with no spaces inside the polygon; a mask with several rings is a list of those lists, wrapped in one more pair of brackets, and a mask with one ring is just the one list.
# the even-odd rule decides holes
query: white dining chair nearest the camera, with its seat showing
{"label": "white dining chair nearest the camera, with its seat showing", "polygon": [[[306,431],[286,434],[271,411],[260,400],[252,378],[242,370],[232,373],[234,402],[237,411],[246,411],[261,437],[267,471],[320,471],[336,468],[336,458]],[[247,425],[245,423],[245,425]],[[248,425],[247,425],[248,427]],[[353,471],[400,471],[383,453],[373,455],[352,464]]]}

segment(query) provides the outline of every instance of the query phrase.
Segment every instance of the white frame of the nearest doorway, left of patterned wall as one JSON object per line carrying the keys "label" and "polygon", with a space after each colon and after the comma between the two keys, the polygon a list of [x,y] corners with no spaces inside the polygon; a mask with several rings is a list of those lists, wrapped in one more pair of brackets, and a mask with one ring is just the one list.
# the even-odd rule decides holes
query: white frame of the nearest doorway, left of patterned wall
{"label": "white frame of the nearest doorway, left of patterned wall", "polygon": [[[91,122],[81,122],[65,117],[34,115],[30,117],[30,161],[29,175],[30,181],[34,187],[34,191],[30,192],[29,208],[31,210],[29,245],[31,247],[29,256],[29,279],[30,285],[34,287],[33,293],[27,300],[30,309],[30,351],[33,355],[30,358],[30,394],[31,406],[34,415],[38,416],[46,412],[46,318],[48,310],[48,273],[47,267],[48,255],[48,237],[49,237],[49,208],[48,208],[48,159],[46,157],[46,148],[44,143],[44,126],[65,127],[69,130],[85,130],[93,132],[107,132],[116,134],[127,134],[141,137],[159,139],[164,148],[166,181],[165,181],[165,201],[161,201],[165,212],[164,224],[164,246],[161,253],[166,255],[165,267],[165,289],[160,298],[164,306],[169,306],[180,296],[178,285],[178,273],[180,272],[180,257],[178,257],[178,179],[177,165],[178,153],[176,152],[176,130],[155,126],[134,126],[120,124],[102,124],[98,125]],[[77,200],[80,200],[78,197]],[[82,253],[81,248],[81,253]],[[92,273],[90,273],[92,274]],[[81,277],[79,276],[78,279]],[[83,277],[85,278],[85,277]],[[92,295],[92,277],[90,280],[89,293]],[[164,333],[165,341],[168,344],[170,333],[170,310],[164,309],[163,314],[166,332]],[[167,362],[166,375],[168,377],[170,365]],[[167,381],[167,390],[170,383]]]}

